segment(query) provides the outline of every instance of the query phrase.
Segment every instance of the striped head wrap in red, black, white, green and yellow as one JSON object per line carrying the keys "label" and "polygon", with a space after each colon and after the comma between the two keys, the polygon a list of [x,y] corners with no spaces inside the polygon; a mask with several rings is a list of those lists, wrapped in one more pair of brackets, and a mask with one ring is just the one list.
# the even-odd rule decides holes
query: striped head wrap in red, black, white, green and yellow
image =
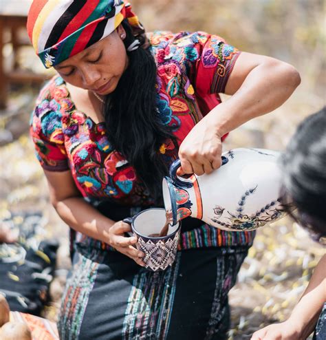
{"label": "striped head wrap in red, black, white, green and yellow", "polygon": [[34,0],[27,28],[36,54],[50,68],[104,39],[123,19],[144,41],[144,28],[122,0]]}

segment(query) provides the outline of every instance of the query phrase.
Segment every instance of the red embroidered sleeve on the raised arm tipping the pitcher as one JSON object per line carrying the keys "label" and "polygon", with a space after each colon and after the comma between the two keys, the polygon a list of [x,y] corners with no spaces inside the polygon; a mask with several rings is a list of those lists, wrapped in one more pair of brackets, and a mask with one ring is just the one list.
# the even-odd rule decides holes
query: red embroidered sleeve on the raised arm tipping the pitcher
{"label": "red embroidered sleeve on the raised arm tipping the pitcher", "polygon": [[224,93],[241,52],[217,35],[197,34],[199,57],[193,65],[196,91],[200,95]]}

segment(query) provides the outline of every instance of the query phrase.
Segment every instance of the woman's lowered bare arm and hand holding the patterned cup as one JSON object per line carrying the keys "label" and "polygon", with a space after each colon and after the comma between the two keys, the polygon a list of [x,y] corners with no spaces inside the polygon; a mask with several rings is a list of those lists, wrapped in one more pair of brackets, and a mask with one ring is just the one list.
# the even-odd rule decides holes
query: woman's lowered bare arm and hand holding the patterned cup
{"label": "woman's lowered bare arm and hand holding the patterned cup", "polygon": [[70,171],[44,172],[52,205],[65,223],[75,231],[105,242],[141,266],[144,265],[141,259],[144,255],[132,246],[137,239],[124,237],[124,233],[131,231],[129,224],[110,220],[85,202]]}

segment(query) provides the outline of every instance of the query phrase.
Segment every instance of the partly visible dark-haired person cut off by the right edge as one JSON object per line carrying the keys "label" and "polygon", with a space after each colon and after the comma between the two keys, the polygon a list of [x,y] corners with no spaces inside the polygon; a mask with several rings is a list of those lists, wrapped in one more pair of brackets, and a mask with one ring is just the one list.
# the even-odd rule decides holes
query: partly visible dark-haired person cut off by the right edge
{"label": "partly visible dark-haired person cut off by the right edge", "polygon": [[[298,208],[294,220],[307,228],[315,240],[326,240],[326,107],[298,127],[283,156],[285,197]],[[287,198],[285,201],[289,201]],[[289,207],[290,208],[290,207]],[[316,327],[314,339],[326,339],[326,255],[289,319],[267,326],[252,340],[305,340]],[[321,311],[321,314],[320,314]],[[318,315],[320,315],[318,319]],[[318,320],[318,322],[317,322]],[[317,323],[317,326],[316,326]]]}

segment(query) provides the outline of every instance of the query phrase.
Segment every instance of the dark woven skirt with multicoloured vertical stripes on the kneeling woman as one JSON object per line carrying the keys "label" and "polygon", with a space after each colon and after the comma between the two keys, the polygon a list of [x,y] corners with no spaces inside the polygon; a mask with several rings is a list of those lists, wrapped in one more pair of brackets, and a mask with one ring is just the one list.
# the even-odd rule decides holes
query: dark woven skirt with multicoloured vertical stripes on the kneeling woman
{"label": "dark woven skirt with multicoloured vertical stripes on the kneeling woman", "polygon": [[76,246],[61,339],[226,339],[228,292],[249,246],[178,251],[153,273],[118,252]]}

